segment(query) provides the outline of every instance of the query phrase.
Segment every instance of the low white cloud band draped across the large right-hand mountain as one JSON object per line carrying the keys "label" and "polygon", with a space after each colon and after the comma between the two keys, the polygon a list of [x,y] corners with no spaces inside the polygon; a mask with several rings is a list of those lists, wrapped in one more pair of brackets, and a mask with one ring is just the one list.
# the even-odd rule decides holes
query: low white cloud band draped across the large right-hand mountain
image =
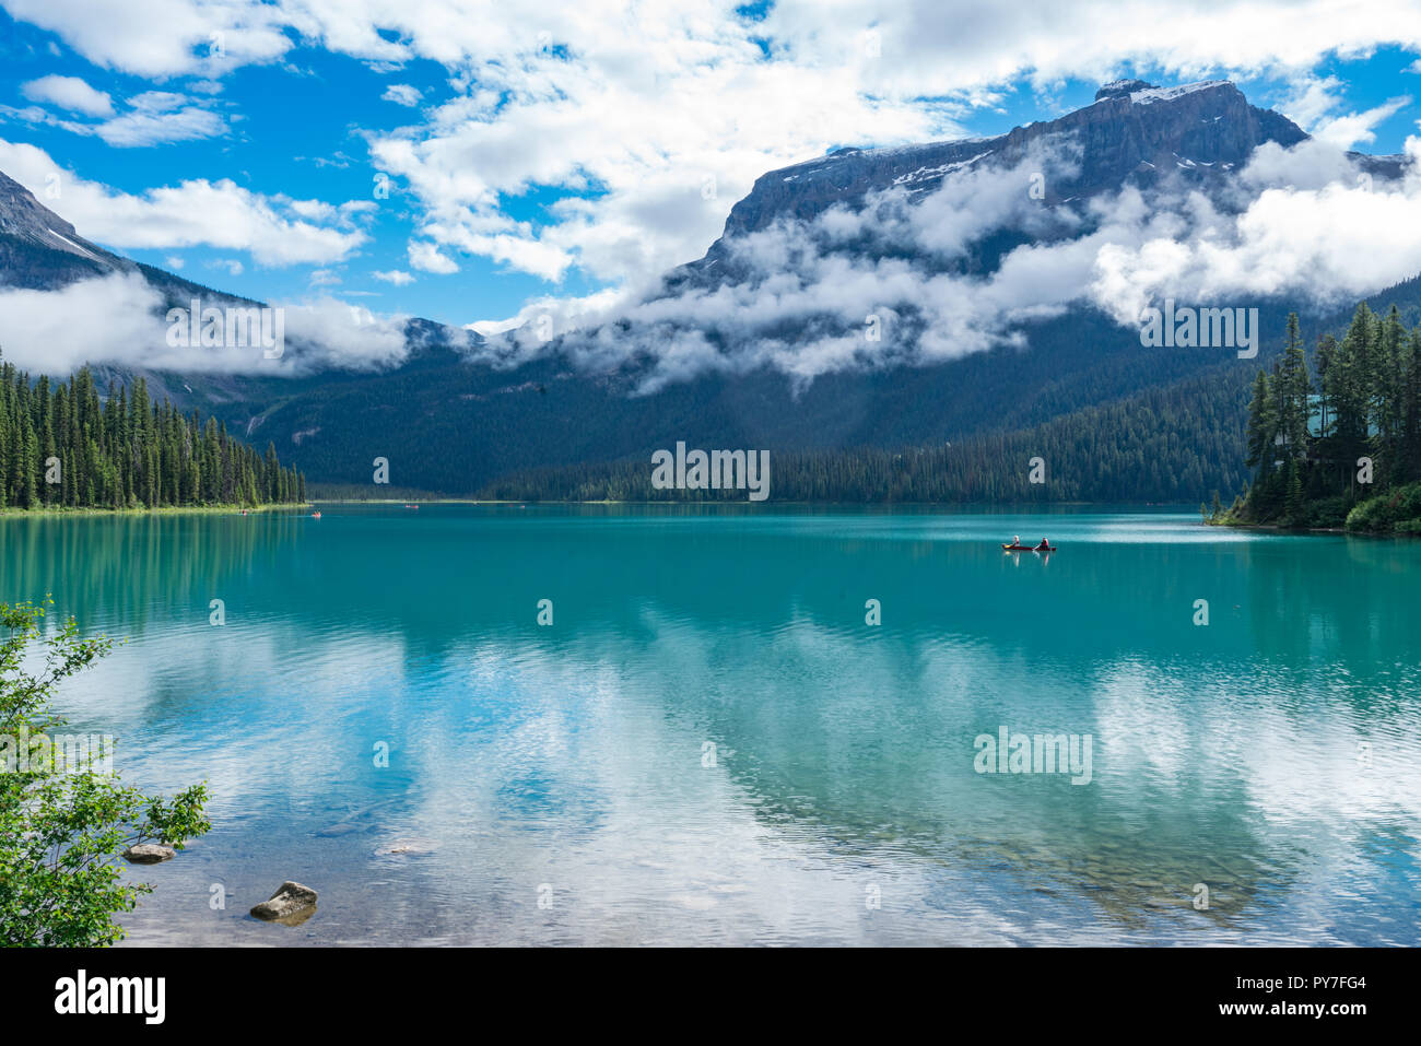
{"label": "low white cloud band draped across the large right-hand mountain", "polygon": [[[1309,141],[1259,149],[1218,199],[1167,182],[1054,207],[1022,189],[1032,171],[1070,162],[1063,145],[1047,148],[1056,153],[953,172],[926,196],[890,189],[861,209],[730,237],[718,262],[728,281],[530,303],[512,321],[477,324],[480,351],[497,364],[558,352],[587,370],[630,368],[639,392],[762,367],[803,384],[1022,344],[1030,324],[1067,308],[1130,328],[1165,297],[1343,304],[1421,271],[1410,234],[1421,139],[1397,182],[1373,182],[1343,151]],[[959,264],[1003,229],[1029,242],[985,273]]]}

